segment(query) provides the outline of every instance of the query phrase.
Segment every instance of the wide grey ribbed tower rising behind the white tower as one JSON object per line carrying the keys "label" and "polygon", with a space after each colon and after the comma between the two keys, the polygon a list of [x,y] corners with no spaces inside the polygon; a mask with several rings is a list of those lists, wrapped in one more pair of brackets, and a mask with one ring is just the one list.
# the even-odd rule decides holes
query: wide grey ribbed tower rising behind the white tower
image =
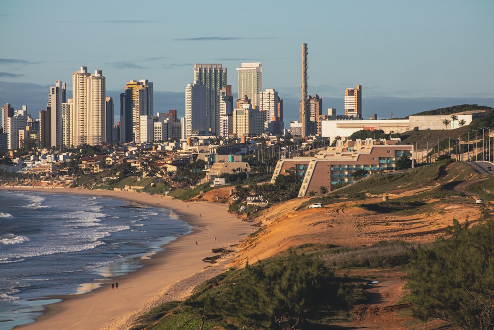
{"label": "wide grey ribbed tower rising behind the white tower", "polygon": [[221,64],[194,64],[194,81],[206,85],[206,131],[220,133],[219,98],[226,87],[226,68]]}

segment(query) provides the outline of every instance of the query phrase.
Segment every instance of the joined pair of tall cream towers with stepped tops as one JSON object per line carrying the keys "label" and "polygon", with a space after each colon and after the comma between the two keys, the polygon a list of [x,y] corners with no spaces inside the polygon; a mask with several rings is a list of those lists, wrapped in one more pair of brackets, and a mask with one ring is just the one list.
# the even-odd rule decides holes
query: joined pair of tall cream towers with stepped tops
{"label": "joined pair of tall cream towers with stepped tops", "polygon": [[102,70],[94,74],[87,66],[72,74],[72,112],[70,115],[70,144],[97,145],[105,142],[106,80]]}

